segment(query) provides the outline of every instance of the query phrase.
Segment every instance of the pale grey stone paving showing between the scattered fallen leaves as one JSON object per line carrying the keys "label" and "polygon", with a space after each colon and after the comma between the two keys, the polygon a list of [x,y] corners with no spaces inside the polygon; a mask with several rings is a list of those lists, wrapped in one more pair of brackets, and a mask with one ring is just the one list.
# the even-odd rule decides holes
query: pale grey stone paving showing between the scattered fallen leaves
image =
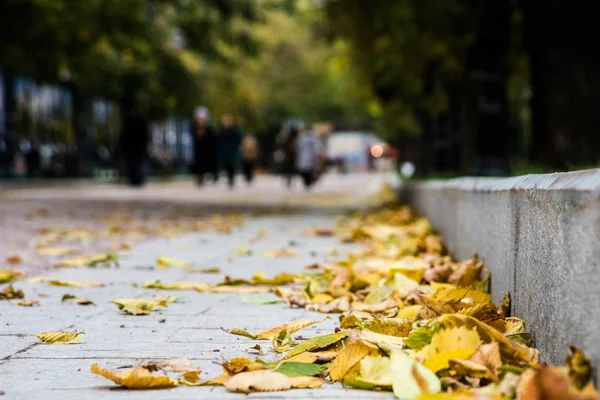
{"label": "pale grey stone paving showing between the scattered fallen leaves", "polygon": [[[329,178],[328,178],[329,179]],[[332,178],[333,179],[333,178]],[[349,178],[356,179],[356,178]],[[363,178],[364,179],[364,178]],[[332,182],[335,182],[332,180]],[[243,227],[231,234],[211,232],[196,233],[178,239],[154,239],[136,246],[131,252],[121,254],[121,266],[115,268],[75,268],[55,269],[44,274],[48,279],[85,280],[102,282],[102,288],[56,287],[44,283],[17,282],[15,287],[25,292],[27,299],[39,299],[39,307],[18,307],[9,302],[0,302],[0,393],[3,399],[142,399],[152,396],[155,399],[212,399],[242,398],[223,387],[180,386],[174,389],[148,391],[128,391],[117,388],[112,382],[93,375],[90,366],[98,363],[102,367],[118,368],[138,365],[143,361],[171,358],[189,358],[202,368],[202,378],[221,373],[219,363],[233,357],[256,355],[247,352],[255,344],[260,344],[268,353],[261,358],[274,360],[272,345],[267,341],[255,341],[224,332],[238,326],[250,332],[258,332],[293,319],[321,319],[322,314],[305,310],[290,309],[284,304],[254,305],[242,297],[274,298],[273,295],[204,294],[194,291],[158,291],[141,288],[144,282],[160,279],[171,281],[198,281],[217,283],[223,275],[235,278],[250,278],[262,271],[266,276],[279,272],[299,273],[304,267],[332,256],[331,249],[343,254],[352,246],[343,245],[336,238],[320,238],[306,235],[313,227],[327,228],[335,224],[330,213],[323,213],[324,204],[340,207],[341,197],[365,199],[381,186],[381,177],[360,179],[362,191],[355,192],[352,185],[340,185],[340,199],[319,207],[318,190],[314,194],[302,194],[304,202],[299,204],[310,208],[298,216],[248,218]],[[262,185],[275,185],[263,182]],[[368,187],[370,185],[370,187]],[[329,186],[330,188],[332,185]],[[335,185],[333,185],[335,187]],[[350,189],[349,189],[350,187]],[[154,190],[155,192],[152,192]],[[267,192],[261,194],[260,187],[245,189],[252,196],[269,203]],[[351,192],[348,192],[348,191]],[[345,193],[344,193],[345,191]],[[160,190],[149,188],[148,193],[160,199],[172,194],[160,195]],[[373,193],[371,193],[373,192]],[[41,193],[44,193],[43,191]],[[60,191],[47,191],[45,196],[59,197]],[[96,196],[100,196],[97,192]],[[233,194],[241,193],[233,192]],[[13,194],[17,196],[19,194]],[[22,194],[20,194],[22,195]],[[37,192],[40,196],[40,192]],[[32,196],[32,193],[29,194]],[[104,192],[110,197],[110,191]],[[216,196],[216,195],[215,195]],[[244,200],[252,202],[250,195]],[[313,196],[312,198],[310,196]],[[17,196],[18,197],[18,196]],[[43,196],[41,196],[43,197]],[[50,196],[51,197],[51,196]],[[179,198],[182,199],[183,196]],[[323,196],[327,198],[326,195]],[[278,202],[282,197],[278,198]],[[312,199],[312,200],[311,200]],[[214,202],[215,200],[210,200]],[[239,199],[236,200],[236,203]],[[348,202],[351,206],[358,203]],[[327,206],[325,206],[327,207]],[[257,237],[259,230],[267,235],[251,245],[251,256],[236,255],[235,249],[247,245]],[[266,250],[287,248],[290,245],[298,252],[297,257],[265,258]],[[191,261],[195,267],[219,267],[219,274],[189,273],[185,269],[172,267],[156,269],[158,256],[179,257]],[[339,256],[338,256],[339,257]],[[137,285],[137,287],[135,286]],[[88,298],[95,305],[79,306],[61,302],[65,293]],[[168,309],[153,312],[147,316],[130,316],[121,313],[110,302],[123,297],[151,298],[155,295],[175,295],[176,303]],[[308,339],[330,333],[337,326],[337,318],[313,325],[298,332],[295,336]],[[72,345],[46,345],[32,336],[42,331],[66,330],[83,331],[85,338]],[[316,390],[292,390],[275,393],[253,393],[250,398],[393,398],[391,393],[345,389],[339,384],[326,385]]]}

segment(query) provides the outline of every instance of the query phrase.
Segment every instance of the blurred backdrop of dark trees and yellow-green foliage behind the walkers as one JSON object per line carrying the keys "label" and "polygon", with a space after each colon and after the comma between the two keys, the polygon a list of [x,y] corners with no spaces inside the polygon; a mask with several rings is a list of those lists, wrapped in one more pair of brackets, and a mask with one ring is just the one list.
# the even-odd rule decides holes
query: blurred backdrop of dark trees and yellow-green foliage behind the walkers
{"label": "blurred backdrop of dark trees and yellow-green foliage behind the walkers", "polygon": [[598,18],[597,0],[2,0],[0,174],[117,176],[125,101],[153,175],[189,172],[200,105],[256,135],[267,171],[290,121],[341,172],[598,166]]}

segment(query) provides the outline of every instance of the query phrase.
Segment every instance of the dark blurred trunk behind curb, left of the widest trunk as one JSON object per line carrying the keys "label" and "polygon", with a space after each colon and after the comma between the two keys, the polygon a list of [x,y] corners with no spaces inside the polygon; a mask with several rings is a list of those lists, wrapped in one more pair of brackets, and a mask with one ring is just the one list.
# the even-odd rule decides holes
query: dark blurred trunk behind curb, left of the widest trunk
{"label": "dark blurred trunk behind curb, left of the widest trunk", "polygon": [[475,84],[477,175],[510,172],[510,130],[506,81],[510,45],[510,0],[480,3],[477,38],[469,51],[468,68]]}

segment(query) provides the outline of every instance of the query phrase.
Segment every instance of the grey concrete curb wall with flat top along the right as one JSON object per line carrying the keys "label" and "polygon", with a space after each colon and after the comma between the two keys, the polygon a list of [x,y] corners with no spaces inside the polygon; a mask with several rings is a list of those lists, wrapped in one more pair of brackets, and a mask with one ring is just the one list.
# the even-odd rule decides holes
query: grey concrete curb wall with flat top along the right
{"label": "grey concrete curb wall with flat top along the right", "polygon": [[562,363],[578,346],[600,382],[600,169],[415,183],[400,197],[457,258],[480,254],[494,300],[510,291],[542,361]]}

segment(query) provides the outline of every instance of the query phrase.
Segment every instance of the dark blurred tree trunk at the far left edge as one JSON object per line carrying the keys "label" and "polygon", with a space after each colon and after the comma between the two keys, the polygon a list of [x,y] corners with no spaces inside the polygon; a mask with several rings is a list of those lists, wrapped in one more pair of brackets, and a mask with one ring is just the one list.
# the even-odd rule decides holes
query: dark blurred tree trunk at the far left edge
{"label": "dark blurred tree trunk at the far left edge", "polygon": [[14,75],[4,69],[2,71],[2,88],[3,88],[3,104],[4,104],[4,143],[6,145],[4,165],[0,166],[4,169],[7,177],[14,176],[15,155],[17,153],[18,140],[15,129],[15,116],[17,111],[17,102],[15,99],[15,78]]}

